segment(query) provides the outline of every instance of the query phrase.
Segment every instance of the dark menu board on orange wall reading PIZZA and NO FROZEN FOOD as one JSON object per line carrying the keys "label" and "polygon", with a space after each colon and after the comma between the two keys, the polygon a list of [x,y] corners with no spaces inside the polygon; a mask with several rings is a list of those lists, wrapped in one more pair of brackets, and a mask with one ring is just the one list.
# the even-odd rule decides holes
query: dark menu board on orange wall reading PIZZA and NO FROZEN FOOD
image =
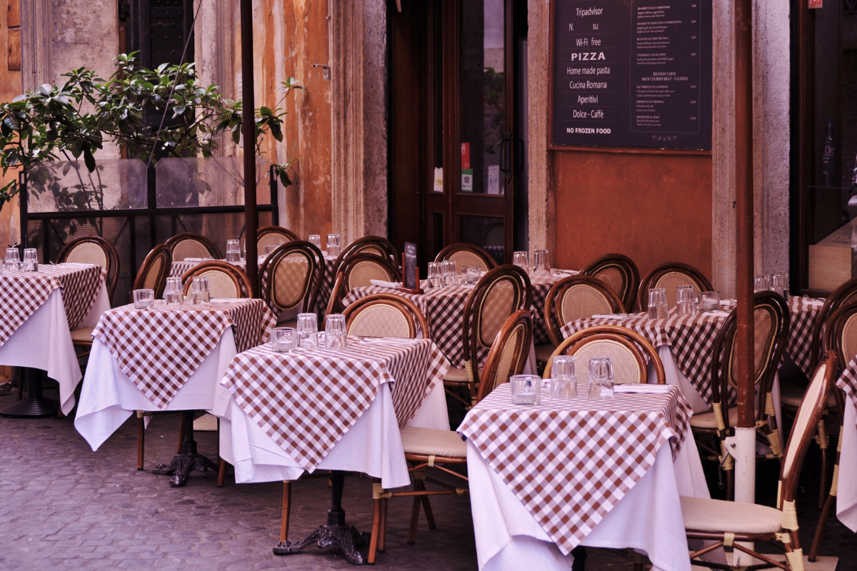
{"label": "dark menu board on orange wall reading PIZZA and NO FROZEN FOOD", "polygon": [[551,146],[711,148],[711,0],[553,0]]}

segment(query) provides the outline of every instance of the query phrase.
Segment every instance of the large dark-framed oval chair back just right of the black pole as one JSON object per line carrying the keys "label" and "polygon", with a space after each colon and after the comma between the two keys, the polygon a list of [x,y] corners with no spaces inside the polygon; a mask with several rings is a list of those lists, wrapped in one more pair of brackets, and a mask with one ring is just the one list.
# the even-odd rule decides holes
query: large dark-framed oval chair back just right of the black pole
{"label": "large dark-framed oval chair back just right of the black pole", "polygon": [[[276,234],[270,234],[279,236]],[[259,269],[262,299],[280,312],[315,309],[325,265],[321,250],[307,241],[289,241],[269,254]]]}

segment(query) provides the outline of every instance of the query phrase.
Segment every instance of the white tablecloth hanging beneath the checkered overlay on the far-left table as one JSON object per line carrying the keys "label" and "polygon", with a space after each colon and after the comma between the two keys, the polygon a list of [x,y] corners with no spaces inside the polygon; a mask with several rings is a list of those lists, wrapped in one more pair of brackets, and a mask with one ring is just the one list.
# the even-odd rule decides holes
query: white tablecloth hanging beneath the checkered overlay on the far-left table
{"label": "white tablecloth hanging beneath the checkered overlay on the far-left table", "polygon": [[[101,285],[93,308],[78,327],[95,327],[101,314],[110,309],[110,296]],[[69,320],[65,315],[62,288],[51,296],[0,347],[0,365],[41,369],[59,384],[60,407],[64,414],[75,407],[75,388],[81,381],[81,366],[77,362],[71,341]]]}

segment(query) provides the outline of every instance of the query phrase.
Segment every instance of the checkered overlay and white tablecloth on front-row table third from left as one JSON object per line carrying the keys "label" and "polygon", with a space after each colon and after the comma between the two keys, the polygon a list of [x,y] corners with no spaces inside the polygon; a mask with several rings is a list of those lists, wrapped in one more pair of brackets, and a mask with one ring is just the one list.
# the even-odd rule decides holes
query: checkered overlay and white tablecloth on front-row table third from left
{"label": "checkered overlay and white tablecloth on front-row table third from left", "polygon": [[399,428],[449,430],[446,357],[429,339],[348,338],[345,349],[267,345],[236,355],[223,386],[220,457],[237,483],[298,479],[316,468],[410,485]]}

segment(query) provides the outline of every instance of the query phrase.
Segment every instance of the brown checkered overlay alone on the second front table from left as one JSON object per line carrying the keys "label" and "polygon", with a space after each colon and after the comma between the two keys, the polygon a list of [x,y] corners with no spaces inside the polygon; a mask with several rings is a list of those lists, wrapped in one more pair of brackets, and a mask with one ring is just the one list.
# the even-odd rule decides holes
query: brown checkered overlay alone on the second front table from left
{"label": "brown checkered overlay alone on the second front table from left", "polygon": [[133,305],[105,312],[93,330],[132,383],[161,410],[206,360],[227,327],[240,353],[267,342],[277,320],[262,300],[214,300],[205,306]]}

